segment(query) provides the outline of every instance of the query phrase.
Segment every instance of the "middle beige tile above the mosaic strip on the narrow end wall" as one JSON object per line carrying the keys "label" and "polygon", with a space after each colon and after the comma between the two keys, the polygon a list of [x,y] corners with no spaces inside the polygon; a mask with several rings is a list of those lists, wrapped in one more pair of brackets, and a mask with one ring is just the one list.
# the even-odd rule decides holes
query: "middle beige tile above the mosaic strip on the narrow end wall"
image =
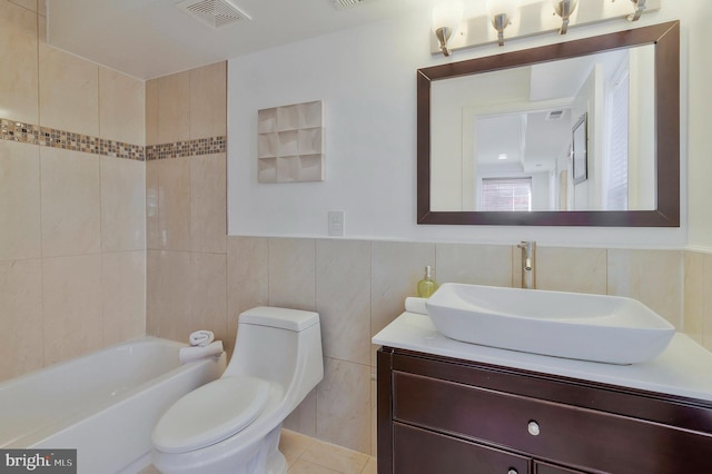
{"label": "middle beige tile above the mosaic strip on the narrow end wall", "polygon": [[189,71],[158,79],[158,142],[190,139]]}

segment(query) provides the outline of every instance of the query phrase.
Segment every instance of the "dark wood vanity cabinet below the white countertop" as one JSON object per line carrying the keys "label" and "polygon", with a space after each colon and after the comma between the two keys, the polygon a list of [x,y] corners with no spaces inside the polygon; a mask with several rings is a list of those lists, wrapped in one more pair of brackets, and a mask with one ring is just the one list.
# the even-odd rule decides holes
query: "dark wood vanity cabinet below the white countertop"
{"label": "dark wood vanity cabinet below the white countertop", "polygon": [[378,474],[712,473],[712,403],[383,347]]}

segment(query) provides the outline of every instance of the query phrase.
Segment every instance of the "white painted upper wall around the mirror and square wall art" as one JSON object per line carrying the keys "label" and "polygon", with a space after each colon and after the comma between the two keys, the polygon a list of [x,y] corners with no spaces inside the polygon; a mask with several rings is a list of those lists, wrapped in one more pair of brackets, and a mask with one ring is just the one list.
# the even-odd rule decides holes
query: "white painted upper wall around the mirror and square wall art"
{"label": "white painted upper wall around the mirror and square wall art", "polygon": [[[556,34],[456,51],[449,59],[429,53],[429,14],[306,40],[235,58],[228,65],[228,215],[230,235],[326,237],[327,211],[344,210],[347,238],[417,241],[672,247],[688,244],[686,130],[690,108],[690,245],[712,248],[712,176],[705,131],[712,76],[704,51],[710,45],[710,2],[665,2],[639,26],[682,21],[682,227],[674,229],[561,228],[416,225],[416,69],[447,61],[557,42]],[[624,30],[621,21],[570,30],[567,39]],[[688,38],[698,43],[688,47]],[[691,57],[688,58],[688,55]],[[688,63],[692,75],[688,75]],[[258,185],[257,110],[322,99],[326,103],[326,181]],[[703,206],[704,205],[704,206]]]}

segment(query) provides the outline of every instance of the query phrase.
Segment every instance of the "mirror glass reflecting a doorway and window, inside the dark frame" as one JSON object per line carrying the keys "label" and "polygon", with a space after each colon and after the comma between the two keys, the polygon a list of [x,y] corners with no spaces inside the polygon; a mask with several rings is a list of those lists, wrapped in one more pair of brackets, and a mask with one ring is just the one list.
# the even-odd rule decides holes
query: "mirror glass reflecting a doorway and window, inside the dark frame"
{"label": "mirror glass reflecting a doorway and window, inside the dark frame", "polygon": [[653,210],[655,47],[434,81],[434,211]]}

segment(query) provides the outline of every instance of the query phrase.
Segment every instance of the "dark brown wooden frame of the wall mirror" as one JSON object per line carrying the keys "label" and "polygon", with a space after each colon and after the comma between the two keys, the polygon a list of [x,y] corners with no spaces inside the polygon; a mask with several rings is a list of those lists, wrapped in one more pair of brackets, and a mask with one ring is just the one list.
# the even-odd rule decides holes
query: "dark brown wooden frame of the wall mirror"
{"label": "dark brown wooden frame of the wall mirror", "polygon": [[[431,85],[601,51],[655,45],[654,210],[431,210]],[[680,21],[417,70],[417,223],[441,225],[680,227]]]}

